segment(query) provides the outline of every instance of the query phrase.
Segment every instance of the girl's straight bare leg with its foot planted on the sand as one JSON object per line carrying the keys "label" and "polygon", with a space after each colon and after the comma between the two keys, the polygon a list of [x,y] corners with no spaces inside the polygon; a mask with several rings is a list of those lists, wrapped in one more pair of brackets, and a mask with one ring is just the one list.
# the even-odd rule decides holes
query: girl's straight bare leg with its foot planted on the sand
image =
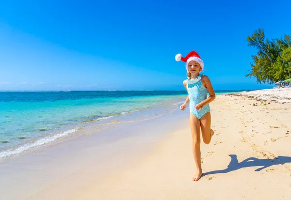
{"label": "girl's straight bare leg with its foot planted on the sand", "polygon": [[193,177],[193,181],[198,181],[202,175],[201,168],[201,152],[200,152],[200,121],[198,118],[190,113],[190,127],[192,133],[192,151],[197,172]]}

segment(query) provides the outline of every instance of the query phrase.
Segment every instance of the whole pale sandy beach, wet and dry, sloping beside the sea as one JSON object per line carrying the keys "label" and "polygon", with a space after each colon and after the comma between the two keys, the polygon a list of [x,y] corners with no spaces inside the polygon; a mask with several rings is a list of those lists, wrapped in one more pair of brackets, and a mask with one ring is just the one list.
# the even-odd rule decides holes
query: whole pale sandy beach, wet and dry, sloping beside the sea
{"label": "whole pale sandy beach, wet and dry, sloping beside the sea", "polygon": [[290,200],[290,99],[291,89],[217,95],[198,182],[186,108],[108,129],[102,141],[91,134],[3,158],[0,199]]}

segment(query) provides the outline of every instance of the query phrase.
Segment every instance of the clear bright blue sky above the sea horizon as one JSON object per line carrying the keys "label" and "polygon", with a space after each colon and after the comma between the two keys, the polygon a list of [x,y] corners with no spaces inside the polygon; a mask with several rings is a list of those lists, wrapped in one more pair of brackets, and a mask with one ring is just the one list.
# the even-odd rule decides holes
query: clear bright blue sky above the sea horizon
{"label": "clear bright blue sky above the sea horizon", "polygon": [[291,1],[0,2],[0,90],[184,90],[198,52],[214,90],[271,88],[244,77],[246,37],[291,34]]}

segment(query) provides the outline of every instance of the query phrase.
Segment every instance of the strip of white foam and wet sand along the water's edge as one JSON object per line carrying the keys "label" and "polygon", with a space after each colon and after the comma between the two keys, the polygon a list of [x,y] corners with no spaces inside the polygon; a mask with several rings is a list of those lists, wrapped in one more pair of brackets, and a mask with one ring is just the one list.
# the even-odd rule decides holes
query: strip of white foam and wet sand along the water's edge
{"label": "strip of white foam and wet sand along the water's edge", "polygon": [[[23,143],[23,139],[21,145],[15,144],[12,148],[9,148],[5,151],[0,152],[0,159],[4,157],[10,157],[17,154],[22,154],[25,151],[30,151],[33,148],[38,148],[43,145],[55,144],[58,142],[63,142],[62,140],[70,140],[71,138],[77,138],[83,135],[94,134],[106,128],[112,128],[121,124],[127,123],[135,123],[142,120],[150,120],[152,117],[156,117],[156,115],[162,116],[172,107],[175,107],[177,103],[180,103],[180,96],[177,96],[175,99],[169,99],[164,103],[166,111],[163,108],[159,108],[159,105],[152,105],[152,107],[141,108],[139,110],[132,110],[117,114],[112,114],[110,116],[98,117],[97,119],[84,120],[80,122],[76,122],[74,124],[69,124],[65,127],[62,127],[58,130],[51,130],[48,134],[42,137],[32,138],[28,140],[28,142]],[[30,137],[21,136],[24,139],[28,139]],[[60,141],[61,140],[61,141]],[[4,140],[3,140],[4,141]],[[9,143],[8,140],[7,142]]]}

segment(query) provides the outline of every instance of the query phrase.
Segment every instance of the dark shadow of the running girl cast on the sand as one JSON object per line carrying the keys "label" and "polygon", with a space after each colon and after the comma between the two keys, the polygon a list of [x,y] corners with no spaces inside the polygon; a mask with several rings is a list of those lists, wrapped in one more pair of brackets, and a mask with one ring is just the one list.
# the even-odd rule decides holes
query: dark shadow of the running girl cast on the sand
{"label": "dark shadow of the running girl cast on the sand", "polygon": [[282,165],[284,163],[291,163],[291,157],[280,156],[280,155],[278,157],[275,157],[274,159],[259,159],[259,158],[250,157],[243,160],[240,163],[237,159],[237,155],[231,154],[229,156],[231,157],[231,160],[226,169],[209,171],[209,172],[203,173],[203,176],[210,175],[210,174],[227,173],[230,171],[235,171],[237,169],[248,168],[248,167],[260,167],[255,170],[255,171],[260,171],[262,169],[268,168],[273,165]]}

